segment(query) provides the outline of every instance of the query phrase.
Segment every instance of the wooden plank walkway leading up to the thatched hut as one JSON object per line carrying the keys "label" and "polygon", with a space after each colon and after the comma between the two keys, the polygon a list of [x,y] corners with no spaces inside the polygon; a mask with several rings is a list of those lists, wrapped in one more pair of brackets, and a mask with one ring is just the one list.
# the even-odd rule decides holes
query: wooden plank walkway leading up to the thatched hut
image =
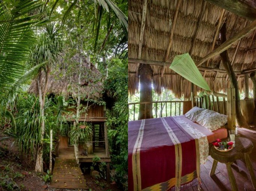
{"label": "wooden plank walkway leading up to the thatched hut", "polygon": [[74,147],[61,148],[55,159],[51,188],[88,189],[80,167],[76,164]]}

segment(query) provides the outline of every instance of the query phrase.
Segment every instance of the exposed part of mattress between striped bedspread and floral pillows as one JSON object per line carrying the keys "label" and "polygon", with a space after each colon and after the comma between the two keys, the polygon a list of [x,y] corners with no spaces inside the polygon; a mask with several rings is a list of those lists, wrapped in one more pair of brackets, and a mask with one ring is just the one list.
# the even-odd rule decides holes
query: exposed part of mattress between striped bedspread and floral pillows
{"label": "exposed part of mattress between striped bedspread and floral pillows", "polygon": [[207,136],[207,140],[209,143],[213,143],[216,141],[216,139],[225,139],[228,137],[228,131],[225,127],[221,127],[213,132],[209,131],[207,128],[205,128],[202,125],[199,125],[196,122],[193,122],[190,119],[187,119],[184,115],[180,116],[181,119],[198,129],[200,132],[205,134]]}

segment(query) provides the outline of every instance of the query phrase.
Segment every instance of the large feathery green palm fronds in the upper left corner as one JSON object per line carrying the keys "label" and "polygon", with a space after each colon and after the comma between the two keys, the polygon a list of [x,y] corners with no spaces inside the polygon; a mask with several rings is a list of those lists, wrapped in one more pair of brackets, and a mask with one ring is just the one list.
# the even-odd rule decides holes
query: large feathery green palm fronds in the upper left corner
{"label": "large feathery green palm fronds in the upper left corner", "polygon": [[39,0],[0,1],[0,101],[38,69],[29,70],[26,62],[36,42],[36,26],[43,22],[37,11],[42,6]]}

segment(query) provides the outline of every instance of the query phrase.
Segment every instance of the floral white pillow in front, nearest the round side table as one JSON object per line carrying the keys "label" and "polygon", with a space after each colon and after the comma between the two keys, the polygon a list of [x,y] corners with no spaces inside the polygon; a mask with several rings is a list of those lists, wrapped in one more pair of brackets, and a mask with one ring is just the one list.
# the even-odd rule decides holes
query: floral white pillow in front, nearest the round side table
{"label": "floral white pillow in front, nearest the round side table", "polygon": [[196,122],[214,131],[228,122],[228,116],[206,109],[196,116]]}

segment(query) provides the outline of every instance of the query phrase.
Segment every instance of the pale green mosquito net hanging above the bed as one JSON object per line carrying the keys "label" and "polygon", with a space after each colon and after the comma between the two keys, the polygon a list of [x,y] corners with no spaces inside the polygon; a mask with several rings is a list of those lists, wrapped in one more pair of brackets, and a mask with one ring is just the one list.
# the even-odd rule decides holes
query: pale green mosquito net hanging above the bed
{"label": "pale green mosquito net hanging above the bed", "polygon": [[193,84],[196,84],[204,90],[211,91],[209,85],[196,67],[195,62],[190,57],[189,53],[175,56],[170,68]]}

